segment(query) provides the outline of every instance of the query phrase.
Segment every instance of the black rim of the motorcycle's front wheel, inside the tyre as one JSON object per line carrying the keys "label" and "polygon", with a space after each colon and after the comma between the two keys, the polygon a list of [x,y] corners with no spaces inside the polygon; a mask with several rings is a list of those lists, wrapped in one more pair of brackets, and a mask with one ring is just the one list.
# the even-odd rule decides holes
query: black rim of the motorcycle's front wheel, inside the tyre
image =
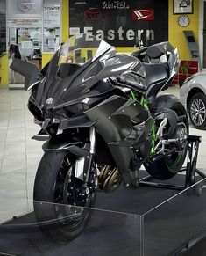
{"label": "black rim of the motorcycle's front wheel, inside the tyre", "polygon": [[[87,208],[94,196],[94,193],[87,194],[84,197],[85,201],[80,201],[77,190],[81,187],[81,181],[75,180],[74,171],[75,163],[71,163],[68,157],[65,157],[61,163],[54,187],[56,216],[60,220],[60,224],[67,225],[69,230],[75,230],[87,218],[89,215]],[[62,204],[67,206],[64,207]]]}

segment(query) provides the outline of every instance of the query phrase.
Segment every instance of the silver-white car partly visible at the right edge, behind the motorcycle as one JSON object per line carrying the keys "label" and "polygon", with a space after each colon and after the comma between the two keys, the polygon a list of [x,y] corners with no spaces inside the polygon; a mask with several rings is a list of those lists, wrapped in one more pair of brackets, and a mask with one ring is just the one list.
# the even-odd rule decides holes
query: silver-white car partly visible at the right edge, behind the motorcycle
{"label": "silver-white car partly visible at the right edge, behind the motorcycle", "polygon": [[193,126],[206,129],[206,72],[188,77],[181,86],[180,96]]}

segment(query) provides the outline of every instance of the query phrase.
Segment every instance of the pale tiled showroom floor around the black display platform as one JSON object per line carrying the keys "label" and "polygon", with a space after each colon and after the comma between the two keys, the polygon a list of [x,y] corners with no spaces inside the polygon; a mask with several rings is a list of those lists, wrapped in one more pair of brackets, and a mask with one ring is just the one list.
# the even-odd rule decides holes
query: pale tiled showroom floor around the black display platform
{"label": "pale tiled showroom floor around the black display platform", "polygon": [[[167,92],[179,94],[174,87]],[[39,126],[33,123],[27,109],[28,96],[26,91],[9,91],[0,86],[0,223],[31,207],[42,142],[31,139],[39,132]],[[197,167],[206,172],[206,131],[190,128],[190,134],[202,136]]]}

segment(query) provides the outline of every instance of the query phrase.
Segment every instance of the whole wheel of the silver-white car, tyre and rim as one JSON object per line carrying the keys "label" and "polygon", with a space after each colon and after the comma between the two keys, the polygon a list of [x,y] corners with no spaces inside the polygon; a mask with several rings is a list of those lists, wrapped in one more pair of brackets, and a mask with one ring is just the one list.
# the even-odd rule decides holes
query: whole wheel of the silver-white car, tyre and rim
{"label": "whole wheel of the silver-white car, tyre and rim", "polygon": [[198,129],[206,129],[206,97],[197,92],[189,100],[188,114],[192,125]]}

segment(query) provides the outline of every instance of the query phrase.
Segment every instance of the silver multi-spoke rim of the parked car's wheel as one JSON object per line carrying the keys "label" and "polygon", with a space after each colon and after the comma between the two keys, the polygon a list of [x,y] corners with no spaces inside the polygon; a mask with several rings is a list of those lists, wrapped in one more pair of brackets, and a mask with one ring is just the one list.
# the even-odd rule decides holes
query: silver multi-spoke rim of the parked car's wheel
{"label": "silver multi-spoke rim of the parked car's wheel", "polygon": [[196,126],[201,126],[206,118],[206,108],[202,99],[194,99],[190,107],[191,120]]}

